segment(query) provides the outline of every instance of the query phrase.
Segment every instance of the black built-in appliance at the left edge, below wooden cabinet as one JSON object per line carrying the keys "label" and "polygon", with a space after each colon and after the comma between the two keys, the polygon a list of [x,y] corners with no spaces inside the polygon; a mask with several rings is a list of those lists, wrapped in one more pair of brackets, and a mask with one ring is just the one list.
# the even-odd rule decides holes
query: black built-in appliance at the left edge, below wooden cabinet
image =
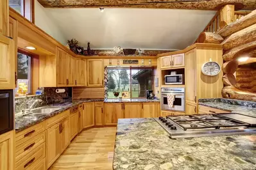
{"label": "black built-in appliance at the left edge, below wooden cabinet", "polygon": [[0,90],[0,134],[13,130],[13,89]]}

